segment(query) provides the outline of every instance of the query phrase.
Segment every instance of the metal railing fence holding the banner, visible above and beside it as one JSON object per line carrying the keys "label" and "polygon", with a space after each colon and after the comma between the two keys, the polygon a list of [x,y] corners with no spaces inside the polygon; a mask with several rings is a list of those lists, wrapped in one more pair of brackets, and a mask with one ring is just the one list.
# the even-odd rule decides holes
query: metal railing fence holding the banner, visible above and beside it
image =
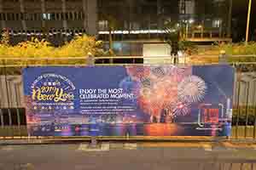
{"label": "metal railing fence holding the banner, visible above and beside it", "polygon": [[[197,56],[198,57],[198,56]],[[219,56],[215,56],[219,58]],[[237,56],[233,56],[237,57]],[[241,56],[255,58],[256,56]],[[173,57],[100,57],[95,65],[171,65]],[[27,66],[84,66],[85,57],[78,58],[9,58],[0,59],[0,137],[27,136],[26,110],[23,101],[22,68]],[[233,97],[232,139],[256,140],[256,62],[224,60],[236,68]],[[179,59],[179,65],[215,65],[193,63],[189,57]]]}

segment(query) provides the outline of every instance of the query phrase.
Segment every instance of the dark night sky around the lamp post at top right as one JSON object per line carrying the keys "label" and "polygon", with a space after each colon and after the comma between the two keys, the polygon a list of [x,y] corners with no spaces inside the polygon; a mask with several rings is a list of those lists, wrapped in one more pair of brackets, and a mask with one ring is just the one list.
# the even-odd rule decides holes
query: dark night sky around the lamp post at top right
{"label": "dark night sky around the lamp post at top right", "polygon": [[[250,40],[256,41],[256,0],[252,0],[252,14],[250,22]],[[249,0],[233,0],[233,19],[236,19],[236,23],[233,22],[233,40],[241,41],[245,39],[246,26],[247,26],[247,5]],[[237,37],[234,35],[237,31]],[[254,31],[254,35],[253,35]]]}

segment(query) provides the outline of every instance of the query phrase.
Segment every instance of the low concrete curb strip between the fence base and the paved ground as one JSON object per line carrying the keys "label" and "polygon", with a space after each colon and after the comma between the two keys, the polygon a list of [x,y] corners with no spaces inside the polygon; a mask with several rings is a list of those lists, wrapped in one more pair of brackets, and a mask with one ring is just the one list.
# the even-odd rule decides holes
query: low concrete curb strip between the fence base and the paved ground
{"label": "low concrete curb strip between the fence base and the paved ground", "polygon": [[54,140],[54,139],[26,139],[26,140],[0,140],[0,147],[12,145],[46,145],[46,144],[79,144],[79,150],[84,151],[107,151],[107,150],[140,150],[145,148],[203,148],[207,151],[212,151],[214,148],[225,149],[241,149],[241,150],[256,150],[256,143],[234,143],[234,142],[202,142],[202,141],[99,141],[95,146],[91,146],[89,140]]}

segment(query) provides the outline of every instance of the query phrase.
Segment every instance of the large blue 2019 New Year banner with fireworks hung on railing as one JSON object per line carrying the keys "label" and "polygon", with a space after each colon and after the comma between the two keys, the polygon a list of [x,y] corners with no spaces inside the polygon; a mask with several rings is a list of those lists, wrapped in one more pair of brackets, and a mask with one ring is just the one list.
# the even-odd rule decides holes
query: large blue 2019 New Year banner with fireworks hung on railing
{"label": "large blue 2019 New Year banner with fireworks hung on railing", "polygon": [[229,136],[229,65],[30,67],[32,136]]}

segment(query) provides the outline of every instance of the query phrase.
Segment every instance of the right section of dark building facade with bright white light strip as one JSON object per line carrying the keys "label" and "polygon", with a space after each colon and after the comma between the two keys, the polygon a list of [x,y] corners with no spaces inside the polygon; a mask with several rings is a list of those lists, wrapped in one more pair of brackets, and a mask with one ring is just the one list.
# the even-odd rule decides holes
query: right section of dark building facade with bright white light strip
{"label": "right section of dark building facade with bright white light strip", "polygon": [[99,33],[117,40],[156,38],[166,23],[182,27],[186,38],[230,37],[230,0],[99,0]]}

